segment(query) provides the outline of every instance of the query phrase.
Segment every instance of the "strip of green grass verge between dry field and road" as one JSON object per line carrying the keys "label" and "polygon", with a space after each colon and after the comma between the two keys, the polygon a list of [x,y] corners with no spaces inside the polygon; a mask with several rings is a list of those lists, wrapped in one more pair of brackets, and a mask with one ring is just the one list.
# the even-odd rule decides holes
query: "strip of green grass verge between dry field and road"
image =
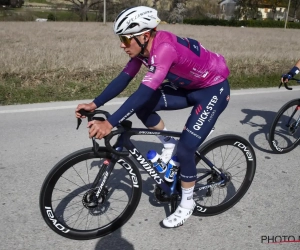
{"label": "strip of green grass verge between dry field and road", "polygon": [[[121,68],[99,72],[51,72],[26,76],[3,74],[0,75],[0,105],[92,100],[120,70]],[[119,97],[132,94],[140,84],[143,73],[139,73]],[[231,89],[277,87],[280,75],[280,73],[255,76],[232,74],[229,82]]]}

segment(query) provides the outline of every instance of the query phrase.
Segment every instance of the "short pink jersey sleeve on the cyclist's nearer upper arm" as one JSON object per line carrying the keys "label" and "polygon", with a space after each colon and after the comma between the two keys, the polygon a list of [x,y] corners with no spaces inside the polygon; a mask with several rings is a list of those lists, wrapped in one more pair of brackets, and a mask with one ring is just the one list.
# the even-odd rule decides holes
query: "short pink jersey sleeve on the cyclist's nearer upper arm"
{"label": "short pink jersey sleeve on the cyclist's nearer upper arm", "polygon": [[156,90],[165,80],[172,64],[177,61],[178,55],[175,48],[169,43],[161,43],[149,58],[149,70],[142,84]]}

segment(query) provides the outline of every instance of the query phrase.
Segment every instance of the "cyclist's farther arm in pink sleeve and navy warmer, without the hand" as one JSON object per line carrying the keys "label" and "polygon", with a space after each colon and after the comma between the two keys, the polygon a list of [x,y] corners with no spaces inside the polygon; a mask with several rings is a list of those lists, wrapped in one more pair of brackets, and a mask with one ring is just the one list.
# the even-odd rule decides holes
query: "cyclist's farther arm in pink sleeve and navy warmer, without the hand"
{"label": "cyclist's farther arm in pink sleeve and navy warmer, without the hand", "polygon": [[97,108],[120,94],[140,70],[141,64],[138,59],[130,60],[124,70],[93,100]]}

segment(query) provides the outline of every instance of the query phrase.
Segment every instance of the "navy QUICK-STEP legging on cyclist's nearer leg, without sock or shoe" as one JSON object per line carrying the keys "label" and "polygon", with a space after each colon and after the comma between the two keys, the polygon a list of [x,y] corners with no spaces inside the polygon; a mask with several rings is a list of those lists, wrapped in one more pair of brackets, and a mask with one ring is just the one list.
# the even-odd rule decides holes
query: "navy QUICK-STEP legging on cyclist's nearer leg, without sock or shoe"
{"label": "navy QUICK-STEP legging on cyclist's nearer leg, without sock or shoe", "polygon": [[188,95],[194,104],[191,114],[178,142],[177,156],[181,164],[181,179],[184,182],[195,180],[196,165],[194,154],[214,127],[218,117],[228,105],[229,83],[196,90]]}

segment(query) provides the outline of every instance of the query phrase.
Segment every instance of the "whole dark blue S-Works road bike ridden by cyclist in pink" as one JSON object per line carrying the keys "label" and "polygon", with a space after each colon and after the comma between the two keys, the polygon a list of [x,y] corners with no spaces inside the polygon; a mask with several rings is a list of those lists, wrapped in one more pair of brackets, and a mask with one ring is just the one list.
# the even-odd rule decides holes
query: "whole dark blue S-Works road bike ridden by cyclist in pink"
{"label": "whole dark blue S-Works road bike ridden by cyclist in pink", "polygon": [[[104,120],[110,115],[103,110],[81,114],[88,121]],[[80,123],[79,119],[77,129]],[[180,174],[173,183],[166,182],[131,137],[180,134],[132,128],[132,122],[125,120],[104,138],[105,146],[92,138],[92,147],[66,156],[45,178],[39,202],[46,224],[59,235],[75,240],[94,239],[117,230],[131,218],[141,198],[138,166],[154,180],[156,200],[169,203],[173,213],[181,198]],[[217,215],[235,205],[250,187],[256,169],[253,147],[233,134],[204,143],[196,151],[195,161],[195,216]]]}

